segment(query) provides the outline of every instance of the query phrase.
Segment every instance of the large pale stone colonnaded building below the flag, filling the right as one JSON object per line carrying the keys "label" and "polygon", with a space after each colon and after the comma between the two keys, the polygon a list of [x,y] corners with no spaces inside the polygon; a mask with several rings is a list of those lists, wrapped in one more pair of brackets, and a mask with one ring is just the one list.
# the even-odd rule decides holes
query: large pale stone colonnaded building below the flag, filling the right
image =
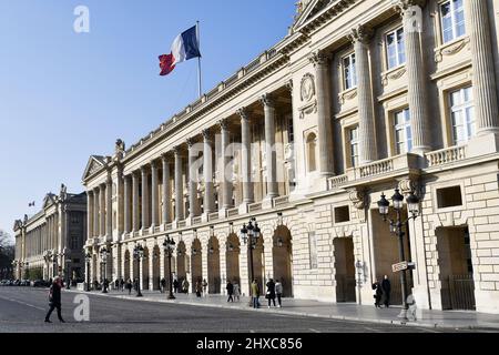
{"label": "large pale stone colonnaded building below the flag, filling the right", "polygon": [[[424,308],[499,313],[499,0],[302,0],[281,42],[138,143],[90,158],[92,278],[157,288],[173,268],[211,293],[240,280],[255,217],[259,283],[371,304],[397,237],[377,201],[420,199],[405,250]],[[407,209],[404,216],[408,216]],[[133,248],[144,257],[135,263]]]}

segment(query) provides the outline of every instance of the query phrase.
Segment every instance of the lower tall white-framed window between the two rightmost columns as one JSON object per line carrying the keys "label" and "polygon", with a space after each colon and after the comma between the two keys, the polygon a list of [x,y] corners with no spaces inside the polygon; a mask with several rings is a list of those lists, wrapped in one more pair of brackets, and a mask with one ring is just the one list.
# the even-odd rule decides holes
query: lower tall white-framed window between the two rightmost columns
{"label": "lower tall white-framed window between the two rightmost columns", "polygon": [[449,99],[454,144],[464,144],[476,133],[472,88],[454,91]]}

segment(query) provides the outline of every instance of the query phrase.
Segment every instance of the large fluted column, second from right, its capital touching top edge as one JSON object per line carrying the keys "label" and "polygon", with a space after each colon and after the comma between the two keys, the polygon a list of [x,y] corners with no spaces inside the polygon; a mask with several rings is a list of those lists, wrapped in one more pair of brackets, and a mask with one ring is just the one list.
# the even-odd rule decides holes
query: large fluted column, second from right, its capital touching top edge
{"label": "large fluted column, second from right, its capital touching top edge", "polygon": [[421,52],[421,29],[415,22],[415,14],[421,13],[421,0],[401,0],[398,7],[403,14],[406,70],[410,110],[410,128],[413,131],[413,152],[424,154],[431,150],[428,130],[428,101],[426,90],[426,70]]}

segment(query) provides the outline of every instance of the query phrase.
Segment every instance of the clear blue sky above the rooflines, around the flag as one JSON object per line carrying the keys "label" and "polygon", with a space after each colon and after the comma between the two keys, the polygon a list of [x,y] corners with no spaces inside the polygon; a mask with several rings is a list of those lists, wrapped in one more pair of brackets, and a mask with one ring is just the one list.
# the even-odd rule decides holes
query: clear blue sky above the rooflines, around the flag
{"label": "clear blue sky above the rooflines, around the flag", "polygon": [[[0,0],[0,229],[61,183],[81,192],[89,155],[111,154],[196,99],[196,61],[159,77],[157,55],[201,21],[204,91],[284,38],[296,0]],[[90,10],[75,33],[73,10]],[[28,203],[35,201],[35,207]]]}

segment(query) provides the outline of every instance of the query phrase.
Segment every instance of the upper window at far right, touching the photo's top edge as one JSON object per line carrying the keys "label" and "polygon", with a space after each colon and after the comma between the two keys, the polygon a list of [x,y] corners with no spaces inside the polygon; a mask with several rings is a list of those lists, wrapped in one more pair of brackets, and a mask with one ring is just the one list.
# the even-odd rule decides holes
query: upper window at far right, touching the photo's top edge
{"label": "upper window at far right, touching the photo's top edge", "polygon": [[440,4],[444,43],[466,34],[465,7],[462,0],[449,0]]}

